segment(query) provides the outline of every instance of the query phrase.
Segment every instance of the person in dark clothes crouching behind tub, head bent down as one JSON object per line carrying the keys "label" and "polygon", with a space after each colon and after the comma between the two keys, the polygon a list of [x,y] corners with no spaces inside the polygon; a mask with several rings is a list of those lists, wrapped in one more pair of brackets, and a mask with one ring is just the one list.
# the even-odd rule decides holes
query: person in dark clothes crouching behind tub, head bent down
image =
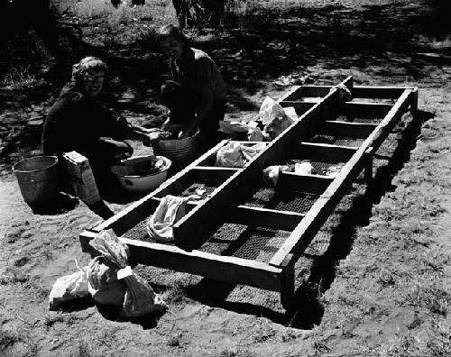
{"label": "person in dark clothes crouching behind tub, head bent down", "polygon": [[157,41],[169,59],[170,80],[161,86],[161,99],[170,109],[165,129],[179,138],[199,129],[201,149],[218,141],[218,122],[224,120],[226,85],[206,52],[190,47],[179,27],[165,25]]}

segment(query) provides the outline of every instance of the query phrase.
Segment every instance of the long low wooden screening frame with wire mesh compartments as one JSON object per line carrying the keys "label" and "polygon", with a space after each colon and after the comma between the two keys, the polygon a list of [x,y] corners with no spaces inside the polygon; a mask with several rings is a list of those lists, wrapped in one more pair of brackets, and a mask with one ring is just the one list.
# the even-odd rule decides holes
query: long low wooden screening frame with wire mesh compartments
{"label": "long low wooden screening frame with wire mesh compartments", "polygon": [[[133,262],[278,291],[281,293],[282,306],[290,307],[290,298],[294,292],[294,265],[300,254],[345,196],[358,174],[365,169],[365,177],[372,178],[373,153],[391,133],[401,115],[408,109],[412,114],[417,110],[416,87],[354,87],[352,77],[346,78],[342,84],[351,90],[354,98],[358,98],[357,102],[340,103],[339,89],[335,86],[291,87],[279,103],[282,106],[294,106],[299,120],[274,141],[266,142],[266,148],[244,168],[213,166],[216,151],[228,141],[218,143],[187,168],[166,180],[160,188],[105,222],[80,233],[83,252],[95,253],[89,241],[102,230],[113,229],[121,236],[133,228],[152,215],[161,197],[179,194],[190,180],[200,178],[206,182],[214,181],[218,187],[209,197],[201,203],[189,202],[189,212],[174,225],[175,246],[123,237],[119,240],[129,246]],[[385,102],[362,101],[368,98]],[[387,104],[387,100],[391,103]],[[383,119],[379,124],[330,120],[337,111]],[[347,137],[364,139],[364,142],[356,147],[308,142],[316,133],[345,134]],[[302,189],[319,195],[308,212],[299,214],[240,204],[240,197],[249,195],[260,182],[262,169],[306,152],[321,160],[345,162],[336,178],[281,173],[279,184],[283,188]],[[217,212],[221,212],[221,215],[215,215]],[[289,231],[290,236],[268,263],[198,251],[225,222],[281,229]]]}

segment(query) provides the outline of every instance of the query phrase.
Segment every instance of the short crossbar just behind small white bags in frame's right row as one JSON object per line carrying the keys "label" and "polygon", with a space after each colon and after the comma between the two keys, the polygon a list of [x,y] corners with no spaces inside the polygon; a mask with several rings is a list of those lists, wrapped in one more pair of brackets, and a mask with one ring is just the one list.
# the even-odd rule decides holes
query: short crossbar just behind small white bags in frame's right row
{"label": "short crossbar just behind small white bags in frame's right row", "polygon": [[291,159],[308,159],[321,162],[346,162],[359,148],[317,142],[301,142]]}

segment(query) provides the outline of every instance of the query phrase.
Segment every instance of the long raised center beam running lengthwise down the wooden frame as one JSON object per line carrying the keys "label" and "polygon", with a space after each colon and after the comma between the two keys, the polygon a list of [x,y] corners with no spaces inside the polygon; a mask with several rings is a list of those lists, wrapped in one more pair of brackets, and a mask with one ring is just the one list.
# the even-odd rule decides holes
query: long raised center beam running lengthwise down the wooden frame
{"label": "long raised center beam running lengthwise down the wooden frame", "polygon": [[181,218],[173,227],[176,245],[191,251],[205,243],[221,224],[221,215],[215,212],[219,213],[224,206],[235,205],[238,199],[243,199],[256,189],[260,179],[255,178],[261,177],[262,169],[283,160],[289,153],[286,149],[290,143],[307,139],[312,134],[315,123],[320,123],[318,118],[324,114],[324,106],[336,103],[337,100],[337,91],[331,91],[321,103],[308,110],[298,122],[292,124],[253,158],[241,172],[235,173],[216,188],[207,201]]}

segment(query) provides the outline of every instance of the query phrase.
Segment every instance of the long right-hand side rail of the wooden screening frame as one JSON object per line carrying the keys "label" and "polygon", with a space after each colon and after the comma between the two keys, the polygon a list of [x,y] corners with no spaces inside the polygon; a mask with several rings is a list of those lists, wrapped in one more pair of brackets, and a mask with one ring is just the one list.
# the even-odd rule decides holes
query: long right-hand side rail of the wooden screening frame
{"label": "long right-hand side rail of the wooden screening frame", "polygon": [[391,128],[407,110],[411,104],[412,93],[413,91],[410,89],[405,89],[402,92],[389,114],[386,115],[381,124],[364,141],[358,151],[354,153],[340,174],[310,208],[304,219],[290,234],[290,237],[285,243],[282,244],[279,251],[274,254],[270,261],[271,265],[281,266],[282,262],[287,260],[289,254],[292,254],[291,257],[295,261],[299,258],[299,254],[307,248],[308,244],[318,232],[318,229],[324,224],[327,216],[332,213],[338,202],[345,195],[346,189],[352,184],[364,165],[368,162],[367,151],[370,148],[373,148],[373,151],[377,151],[383,140],[391,132]]}

